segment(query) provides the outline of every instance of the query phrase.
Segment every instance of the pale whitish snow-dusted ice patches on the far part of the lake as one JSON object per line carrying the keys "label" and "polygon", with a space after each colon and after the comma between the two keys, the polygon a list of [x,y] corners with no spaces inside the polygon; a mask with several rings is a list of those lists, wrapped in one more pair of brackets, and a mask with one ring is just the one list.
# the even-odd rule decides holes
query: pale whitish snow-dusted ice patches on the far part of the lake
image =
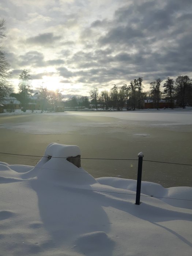
{"label": "pale whitish snow-dusted ice patches on the far part of the lake", "polygon": [[[177,127],[178,125],[191,125],[192,124],[192,111],[134,111],[134,112],[68,112],[68,113],[46,113],[46,116],[82,116],[82,117],[113,117],[119,121],[112,122],[95,122],[83,121],[75,123],[73,120],[61,119],[58,122],[42,122],[42,121],[29,121],[19,124],[4,123],[0,128],[11,129],[16,132],[25,132],[31,134],[60,134],[60,133],[72,133],[78,131],[83,133],[88,127],[93,128],[109,128],[108,132],[119,131],[120,128],[125,128],[127,125],[136,125],[143,127]],[[112,129],[110,129],[112,128]],[[95,131],[86,131],[89,134],[95,133]],[[137,136],[147,136],[148,134],[135,134]]]}

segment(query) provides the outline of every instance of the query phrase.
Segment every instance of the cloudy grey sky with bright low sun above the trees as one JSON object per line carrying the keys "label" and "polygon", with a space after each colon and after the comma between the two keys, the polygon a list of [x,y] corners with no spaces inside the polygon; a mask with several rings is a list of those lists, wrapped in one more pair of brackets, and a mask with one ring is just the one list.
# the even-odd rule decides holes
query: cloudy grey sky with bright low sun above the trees
{"label": "cloudy grey sky with bright low sun above the trees", "polygon": [[34,89],[66,98],[139,76],[145,90],[157,78],[192,78],[191,0],[1,0],[0,18],[16,90],[23,69]]}

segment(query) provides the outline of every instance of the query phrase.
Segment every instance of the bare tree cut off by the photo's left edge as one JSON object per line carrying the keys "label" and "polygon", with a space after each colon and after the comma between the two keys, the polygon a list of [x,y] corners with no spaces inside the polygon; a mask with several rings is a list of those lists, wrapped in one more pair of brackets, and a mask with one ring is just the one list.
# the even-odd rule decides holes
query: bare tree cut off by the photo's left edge
{"label": "bare tree cut off by the photo's left edge", "polygon": [[[0,20],[0,39],[5,37],[5,20]],[[3,51],[3,45],[0,42],[0,101],[3,97],[9,95],[12,91],[10,84],[10,73],[9,73],[9,63],[5,58],[5,52]]]}

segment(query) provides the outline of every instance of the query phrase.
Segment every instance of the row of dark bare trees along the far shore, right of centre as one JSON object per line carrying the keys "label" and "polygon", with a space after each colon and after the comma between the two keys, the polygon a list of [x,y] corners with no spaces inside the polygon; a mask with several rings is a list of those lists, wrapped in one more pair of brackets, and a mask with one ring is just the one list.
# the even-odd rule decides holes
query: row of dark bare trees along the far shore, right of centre
{"label": "row of dark bare trees along the far shore, right of centre", "polygon": [[167,78],[164,84],[160,78],[150,83],[150,90],[143,91],[143,78],[133,79],[129,84],[123,86],[114,86],[110,90],[102,90],[99,93],[98,88],[90,91],[90,99],[88,97],[72,97],[65,102],[65,106],[76,108],[86,107],[89,104],[102,105],[102,108],[115,108],[122,110],[123,108],[142,109],[144,100],[148,99],[154,102],[155,108],[159,108],[161,99],[170,103],[170,108],[175,105],[185,108],[186,105],[192,106],[192,80],[189,76],[178,76],[175,80]]}

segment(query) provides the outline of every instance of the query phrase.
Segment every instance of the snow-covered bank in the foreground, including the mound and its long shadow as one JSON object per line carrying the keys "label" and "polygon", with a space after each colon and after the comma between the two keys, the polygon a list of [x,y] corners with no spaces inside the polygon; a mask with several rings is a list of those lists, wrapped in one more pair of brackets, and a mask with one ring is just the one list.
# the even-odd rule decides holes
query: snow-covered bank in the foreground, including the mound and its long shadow
{"label": "snow-covered bank in the foreground, including the mound and its long shadow", "polygon": [[135,180],[95,179],[66,160],[79,154],[53,143],[35,167],[0,163],[0,255],[191,255],[192,188],[142,182],[135,205]]}

